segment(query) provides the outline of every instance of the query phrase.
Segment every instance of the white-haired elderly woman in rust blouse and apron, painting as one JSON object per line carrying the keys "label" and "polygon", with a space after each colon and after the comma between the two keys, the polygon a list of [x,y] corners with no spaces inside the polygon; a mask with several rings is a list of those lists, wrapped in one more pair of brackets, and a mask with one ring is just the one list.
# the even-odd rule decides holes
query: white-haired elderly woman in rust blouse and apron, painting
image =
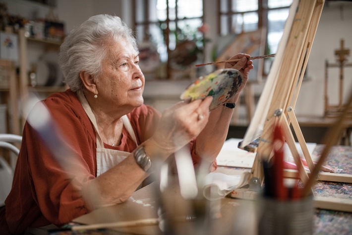
{"label": "white-haired elderly woman in rust blouse and apron, painting", "polygon": [[[226,64],[242,73],[240,90],[253,68],[247,57],[238,54],[238,63]],[[162,115],[144,105],[136,41],[120,18],[89,18],[65,38],[59,63],[69,89],[42,102],[74,151],[72,164],[79,165],[74,172],[61,166],[27,122],[13,187],[0,210],[5,234],[61,226],[124,202],[153,172],[153,161],[166,161],[187,145],[195,165],[214,167],[233,109],[209,112],[211,96],[179,102]],[[228,102],[237,99],[238,93]]]}

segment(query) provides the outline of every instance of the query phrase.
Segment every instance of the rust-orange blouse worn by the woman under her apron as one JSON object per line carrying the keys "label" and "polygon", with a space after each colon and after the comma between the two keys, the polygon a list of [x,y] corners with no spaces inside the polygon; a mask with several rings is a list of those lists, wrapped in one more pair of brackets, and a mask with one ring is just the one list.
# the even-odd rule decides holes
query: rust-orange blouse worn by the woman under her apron
{"label": "rust-orange blouse worn by the woman under her apron", "polygon": [[[19,234],[28,227],[49,224],[61,226],[89,212],[85,208],[81,188],[84,182],[96,177],[94,127],[76,94],[69,89],[52,94],[44,103],[61,129],[64,139],[79,158],[80,164],[73,167],[79,167],[85,173],[79,178],[72,178],[70,172],[60,167],[37,133],[26,123],[12,189],[5,201],[5,207],[0,209],[2,232]],[[138,144],[153,135],[160,119],[160,113],[147,105],[135,108],[127,116]],[[194,143],[191,143],[190,148],[193,163],[196,164],[200,157],[195,154]],[[121,144],[117,147],[105,147],[132,152],[136,144],[127,130],[123,129]]]}

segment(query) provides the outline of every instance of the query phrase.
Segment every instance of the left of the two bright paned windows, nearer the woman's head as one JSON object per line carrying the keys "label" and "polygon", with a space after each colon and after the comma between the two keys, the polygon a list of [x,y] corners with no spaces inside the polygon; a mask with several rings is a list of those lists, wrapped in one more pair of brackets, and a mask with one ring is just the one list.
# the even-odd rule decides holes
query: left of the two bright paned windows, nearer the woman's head
{"label": "left of the two bright paned windows, nearer the woman's head", "polygon": [[[133,0],[134,25],[138,43],[151,41],[167,64],[172,67],[172,52],[186,40],[203,48],[203,34],[197,29],[203,23],[203,0]],[[166,75],[170,78],[170,74]]]}

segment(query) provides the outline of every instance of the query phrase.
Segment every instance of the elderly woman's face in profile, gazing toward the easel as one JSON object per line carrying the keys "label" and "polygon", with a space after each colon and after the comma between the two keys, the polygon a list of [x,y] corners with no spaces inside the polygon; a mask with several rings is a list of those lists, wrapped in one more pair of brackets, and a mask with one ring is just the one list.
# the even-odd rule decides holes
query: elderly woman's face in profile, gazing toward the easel
{"label": "elderly woman's face in profile, gazing toward the easel", "polygon": [[141,106],[144,76],[138,66],[138,53],[127,40],[110,41],[106,46],[108,53],[102,62],[102,75],[97,79],[99,98],[119,109]]}

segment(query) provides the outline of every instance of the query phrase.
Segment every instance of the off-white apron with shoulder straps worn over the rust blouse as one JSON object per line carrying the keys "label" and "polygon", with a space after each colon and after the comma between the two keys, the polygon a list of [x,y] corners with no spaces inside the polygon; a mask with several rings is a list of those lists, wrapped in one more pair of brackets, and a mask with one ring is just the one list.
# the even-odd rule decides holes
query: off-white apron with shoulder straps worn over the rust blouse
{"label": "off-white apron with shoulder straps worn over the rust blouse", "polygon": [[[84,110],[86,111],[90,121],[93,123],[95,131],[97,133],[97,177],[98,177],[99,175],[103,174],[113,166],[120,163],[130,153],[104,148],[104,143],[102,141],[102,138],[100,137],[98,126],[97,126],[97,120],[95,119],[93,111],[90,108],[86,97],[83,95],[82,92],[77,92],[77,96]],[[132,139],[138,146],[136,136],[134,134],[133,128],[131,126],[131,123],[128,120],[127,115],[122,116],[122,122],[128,134],[132,137]]]}

